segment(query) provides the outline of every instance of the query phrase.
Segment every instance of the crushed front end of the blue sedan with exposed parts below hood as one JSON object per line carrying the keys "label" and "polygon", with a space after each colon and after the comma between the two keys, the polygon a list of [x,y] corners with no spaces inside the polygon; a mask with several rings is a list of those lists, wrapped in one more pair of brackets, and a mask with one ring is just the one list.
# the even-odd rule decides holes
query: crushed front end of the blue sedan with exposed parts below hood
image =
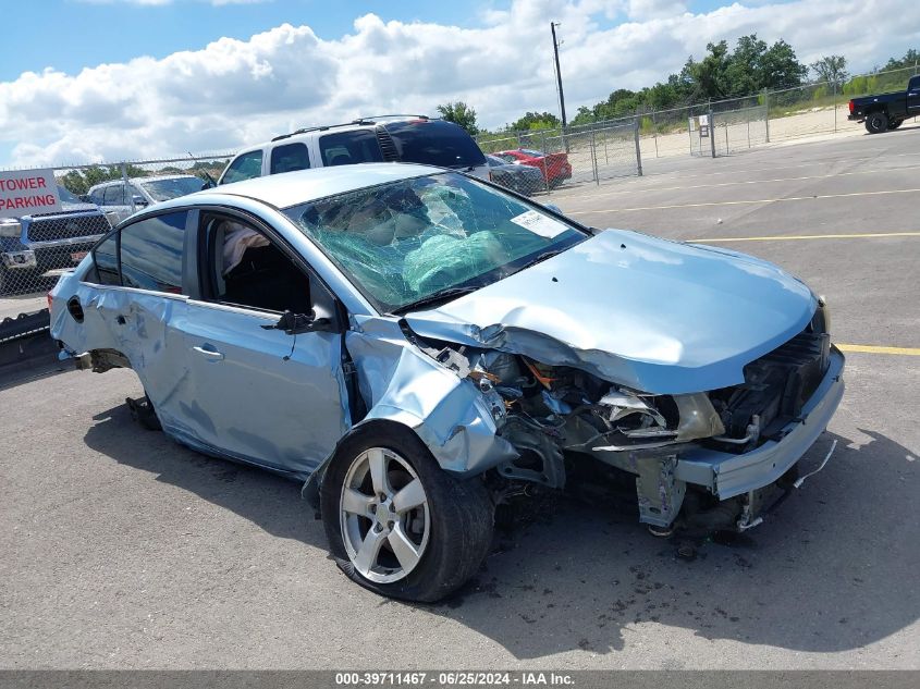
{"label": "crushed front end of the blue sedan with exposed parts below hood", "polygon": [[426,348],[479,389],[496,435],[517,452],[494,467],[500,480],[562,489],[599,464],[635,477],[651,527],[744,530],[792,488],[843,396],[844,357],[826,325],[819,307],[748,364],[741,384],[694,394],[648,394],[494,349]]}

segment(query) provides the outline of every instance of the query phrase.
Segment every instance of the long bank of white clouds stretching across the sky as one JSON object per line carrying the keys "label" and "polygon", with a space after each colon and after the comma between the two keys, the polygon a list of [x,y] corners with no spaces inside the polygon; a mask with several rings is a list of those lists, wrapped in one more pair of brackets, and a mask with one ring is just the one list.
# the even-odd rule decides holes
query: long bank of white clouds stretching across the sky
{"label": "long bank of white clouds stretching across the sky", "polygon": [[477,28],[367,14],[334,40],[284,24],[163,59],[27,72],[0,83],[0,150],[12,147],[0,164],[226,150],[360,114],[432,112],[447,100],[465,100],[488,126],[555,111],[551,21],[563,23],[569,113],[665,78],[712,40],[757,32],[785,38],[802,62],[838,53],[859,70],[916,45],[920,26],[920,2],[905,0],[685,9],[675,0],[515,0],[481,14]]}

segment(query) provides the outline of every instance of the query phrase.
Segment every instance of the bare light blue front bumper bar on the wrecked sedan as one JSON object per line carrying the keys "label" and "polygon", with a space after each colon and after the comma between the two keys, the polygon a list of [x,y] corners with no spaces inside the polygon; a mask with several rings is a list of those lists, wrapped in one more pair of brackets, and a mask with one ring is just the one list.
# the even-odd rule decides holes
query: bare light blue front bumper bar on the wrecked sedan
{"label": "bare light blue front bumper bar on the wrecked sedan", "polygon": [[827,428],[844,395],[843,371],[844,355],[832,346],[827,372],[814,394],[802,406],[799,418],[784,429],[786,434],[781,441],[768,441],[743,455],[707,448],[692,450],[680,456],[674,478],[702,485],[720,500],[773,483],[801,458]]}

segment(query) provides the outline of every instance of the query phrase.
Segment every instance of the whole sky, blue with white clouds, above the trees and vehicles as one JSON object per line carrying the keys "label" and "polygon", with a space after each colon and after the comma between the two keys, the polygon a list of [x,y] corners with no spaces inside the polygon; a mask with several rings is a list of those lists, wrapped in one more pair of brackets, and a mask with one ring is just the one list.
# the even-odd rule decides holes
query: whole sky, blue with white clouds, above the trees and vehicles
{"label": "whole sky, blue with white clouds, above the trees and vehicles", "polygon": [[[15,8],[10,10],[9,8]],[[850,70],[920,47],[920,0],[30,0],[4,5],[0,167],[238,150],[299,126],[462,100],[481,126],[784,38]],[[10,17],[10,12],[14,16]],[[13,27],[13,29],[11,29]]]}

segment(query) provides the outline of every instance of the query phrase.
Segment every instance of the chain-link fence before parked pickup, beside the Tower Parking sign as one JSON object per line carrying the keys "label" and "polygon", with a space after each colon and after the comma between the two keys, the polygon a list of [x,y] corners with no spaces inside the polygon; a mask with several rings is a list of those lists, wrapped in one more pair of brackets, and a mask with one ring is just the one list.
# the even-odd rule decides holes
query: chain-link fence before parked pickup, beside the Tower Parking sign
{"label": "chain-link fence before parked pickup, beside the Tower Parking sign", "polygon": [[204,188],[231,157],[52,168],[60,211],[0,219],[0,297],[47,292],[112,225],[140,208]]}

